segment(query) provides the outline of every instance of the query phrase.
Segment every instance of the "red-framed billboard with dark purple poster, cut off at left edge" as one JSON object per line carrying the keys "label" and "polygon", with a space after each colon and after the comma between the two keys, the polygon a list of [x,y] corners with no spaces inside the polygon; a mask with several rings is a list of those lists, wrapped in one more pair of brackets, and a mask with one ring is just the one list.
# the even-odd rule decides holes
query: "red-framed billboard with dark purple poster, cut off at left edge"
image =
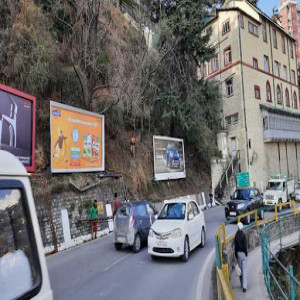
{"label": "red-framed billboard with dark purple poster, cut off at left edge", "polygon": [[36,98],[0,84],[0,149],[34,172]]}

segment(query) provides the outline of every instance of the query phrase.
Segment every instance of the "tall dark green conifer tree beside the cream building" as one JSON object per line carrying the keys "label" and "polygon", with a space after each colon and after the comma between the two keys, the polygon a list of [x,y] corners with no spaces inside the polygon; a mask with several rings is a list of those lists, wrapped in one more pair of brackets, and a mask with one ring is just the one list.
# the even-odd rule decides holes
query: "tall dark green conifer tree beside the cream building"
{"label": "tall dark green conifer tree beside the cream building", "polygon": [[165,1],[158,49],[163,57],[154,81],[156,127],[171,136],[183,135],[207,162],[214,151],[211,137],[219,129],[218,84],[196,78],[196,68],[215,52],[204,34],[210,1]]}

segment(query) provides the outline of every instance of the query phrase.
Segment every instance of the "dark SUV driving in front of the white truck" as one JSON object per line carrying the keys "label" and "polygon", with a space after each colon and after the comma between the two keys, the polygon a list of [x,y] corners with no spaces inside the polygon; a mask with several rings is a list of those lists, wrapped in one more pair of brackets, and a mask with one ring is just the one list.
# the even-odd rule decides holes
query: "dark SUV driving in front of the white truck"
{"label": "dark SUV driving in front of the white truck", "polygon": [[[225,205],[225,217],[227,220],[264,206],[259,189],[255,187],[238,188],[230,198],[231,200]],[[259,211],[258,217],[261,220],[264,218],[263,210]],[[244,221],[246,224],[249,224],[251,216],[246,217]]]}

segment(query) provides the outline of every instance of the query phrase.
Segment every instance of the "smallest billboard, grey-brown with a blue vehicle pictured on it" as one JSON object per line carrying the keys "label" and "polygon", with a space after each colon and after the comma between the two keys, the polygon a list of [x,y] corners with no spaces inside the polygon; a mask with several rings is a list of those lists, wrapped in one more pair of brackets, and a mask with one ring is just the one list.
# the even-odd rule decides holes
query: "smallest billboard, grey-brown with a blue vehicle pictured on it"
{"label": "smallest billboard, grey-brown with a blue vehicle pictured on it", "polygon": [[182,139],[153,136],[153,152],[155,180],[186,177]]}

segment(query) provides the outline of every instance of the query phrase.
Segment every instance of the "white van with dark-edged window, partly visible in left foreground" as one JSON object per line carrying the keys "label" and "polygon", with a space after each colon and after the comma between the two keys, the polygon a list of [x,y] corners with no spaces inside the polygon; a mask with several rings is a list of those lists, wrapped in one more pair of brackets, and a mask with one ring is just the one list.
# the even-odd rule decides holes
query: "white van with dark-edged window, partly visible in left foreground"
{"label": "white van with dark-edged window, partly visible in left foreground", "polygon": [[0,299],[52,300],[28,173],[0,150]]}

